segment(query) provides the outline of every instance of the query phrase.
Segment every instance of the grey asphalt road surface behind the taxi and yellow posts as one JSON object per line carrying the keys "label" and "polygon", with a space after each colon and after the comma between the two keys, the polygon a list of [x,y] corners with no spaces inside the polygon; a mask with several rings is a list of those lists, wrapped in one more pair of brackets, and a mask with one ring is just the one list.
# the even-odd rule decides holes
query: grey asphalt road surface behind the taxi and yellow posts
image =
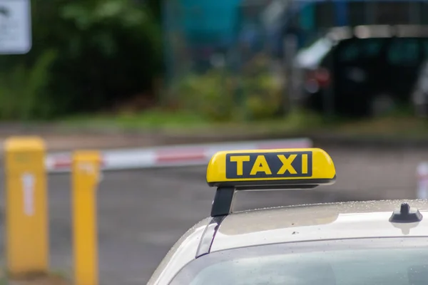
{"label": "grey asphalt road surface behind the taxi and yellow posts", "polygon": [[[307,191],[243,192],[238,194],[236,209],[414,198],[417,164],[428,161],[428,148],[325,150],[335,161],[335,185]],[[49,176],[51,267],[72,272],[69,185],[68,175]],[[146,284],[173,243],[208,216],[214,192],[206,185],[205,167],[106,172],[98,192],[101,284]],[[0,201],[4,207],[3,191]]]}

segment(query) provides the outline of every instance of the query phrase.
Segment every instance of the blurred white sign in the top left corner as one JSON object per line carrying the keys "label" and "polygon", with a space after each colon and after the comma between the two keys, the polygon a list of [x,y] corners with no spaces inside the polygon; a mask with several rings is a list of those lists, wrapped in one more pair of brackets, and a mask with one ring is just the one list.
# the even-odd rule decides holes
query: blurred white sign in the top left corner
{"label": "blurred white sign in the top left corner", "polygon": [[0,0],[0,54],[31,50],[30,0]]}

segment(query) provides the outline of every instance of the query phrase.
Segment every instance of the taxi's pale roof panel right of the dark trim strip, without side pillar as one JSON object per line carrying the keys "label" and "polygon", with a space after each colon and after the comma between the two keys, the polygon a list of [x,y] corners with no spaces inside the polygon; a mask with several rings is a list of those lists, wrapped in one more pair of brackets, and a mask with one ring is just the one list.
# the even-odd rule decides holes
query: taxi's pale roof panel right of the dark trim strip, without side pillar
{"label": "taxi's pale roof panel right of the dark trim strip, without side pillar", "polygon": [[[404,201],[338,202],[279,207],[231,214],[220,224],[210,252],[281,242],[364,237],[402,237],[409,224],[392,224],[389,218]],[[427,201],[409,205],[428,214]],[[413,224],[411,224],[413,226]],[[412,229],[428,235],[428,219]]]}

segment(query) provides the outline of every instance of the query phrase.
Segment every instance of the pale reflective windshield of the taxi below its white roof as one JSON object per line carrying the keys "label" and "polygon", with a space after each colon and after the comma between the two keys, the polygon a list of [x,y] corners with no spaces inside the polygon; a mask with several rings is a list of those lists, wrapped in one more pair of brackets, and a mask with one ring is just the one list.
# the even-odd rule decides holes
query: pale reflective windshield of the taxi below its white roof
{"label": "pale reflective windshield of the taxi below its white roof", "polygon": [[215,252],[191,262],[171,285],[428,284],[428,238],[347,239]]}

